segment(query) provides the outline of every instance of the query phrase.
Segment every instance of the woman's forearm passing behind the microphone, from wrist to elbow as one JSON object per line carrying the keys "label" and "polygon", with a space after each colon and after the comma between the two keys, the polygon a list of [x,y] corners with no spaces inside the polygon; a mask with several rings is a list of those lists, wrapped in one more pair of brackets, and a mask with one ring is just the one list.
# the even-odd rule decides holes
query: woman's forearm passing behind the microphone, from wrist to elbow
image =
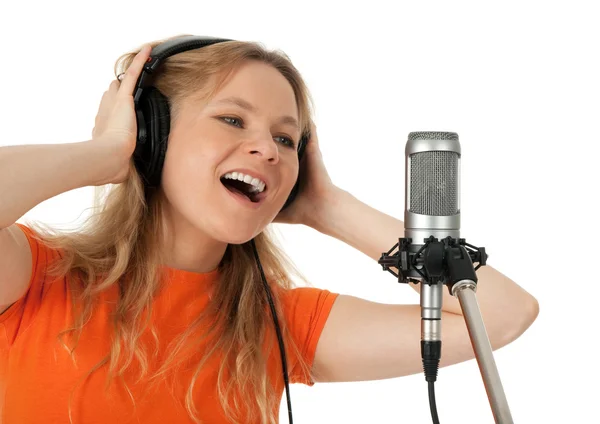
{"label": "woman's forearm passing behind the microphone, from wrist to elbow", "polygon": [[[358,249],[378,261],[382,252],[387,252],[404,237],[404,223],[386,215],[356,199],[350,193],[338,189],[331,199],[331,207],[311,223],[313,228]],[[495,318],[511,314],[537,315],[537,301],[515,282],[489,265],[477,270],[477,301],[482,314]],[[419,284],[409,284],[420,292]],[[444,288],[442,309],[462,314],[460,303]],[[487,312],[487,314],[486,314]],[[505,315],[506,316],[506,315]]]}

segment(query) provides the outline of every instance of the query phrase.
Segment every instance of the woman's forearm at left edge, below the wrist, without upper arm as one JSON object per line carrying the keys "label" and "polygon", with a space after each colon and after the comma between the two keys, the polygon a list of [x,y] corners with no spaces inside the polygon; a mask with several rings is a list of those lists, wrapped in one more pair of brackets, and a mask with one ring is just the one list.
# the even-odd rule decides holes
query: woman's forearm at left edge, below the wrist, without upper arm
{"label": "woman's forearm at left edge, below the wrist, without upper arm", "polygon": [[0,148],[0,228],[58,194],[92,185],[100,175],[94,142],[30,144]]}

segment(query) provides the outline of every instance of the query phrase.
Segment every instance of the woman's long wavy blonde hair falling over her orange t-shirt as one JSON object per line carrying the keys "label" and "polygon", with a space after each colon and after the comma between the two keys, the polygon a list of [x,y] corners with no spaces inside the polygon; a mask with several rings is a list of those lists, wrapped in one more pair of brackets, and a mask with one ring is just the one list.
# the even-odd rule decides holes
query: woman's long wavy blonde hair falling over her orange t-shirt
{"label": "woman's long wavy blonde hair falling over her orange t-shirt", "polygon": [[[155,41],[153,46],[165,41]],[[122,55],[115,64],[115,76],[124,72],[139,49]],[[171,119],[176,119],[178,105],[189,96],[208,100],[246,61],[261,61],[277,69],[292,86],[299,110],[299,122],[304,131],[310,128],[312,99],[297,69],[289,57],[279,51],[268,51],[254,42],[230,41],[180,53],[167,59],[156,73],[154,85],[169,98]],[[210,340],[209,349],[196,366],[185,397],[185,407],[192,420],[202,423],[193,402],[193,388],[206,361],[214,354],[223,355],[218,371],[218,393],[227,418],[234,423],[275,423],[276,403],[280,399],[268,381],[267,361],[272,349],[278,349],[267,329],[273,327],[268,301],[250,242],[230,244],[219,264],[219,283],[207,308],[167,351],[169,356],[159,369],[150,373],[149,356],[145,346],[138,343],[144,331],[151,331],[157,343],[160,334],[154,325],[148,328],[152,300],[161,284],[160,265],[164,263],[160,249],[163,234],[161,203],[158,191],[148,191],[133,161],[129,178],[121,184],[107,185],[96,190],[91,215],[75,232],[62,232],[38,222],[27,224],[36,237],[50,248],[61,251],[60,259],[48,269],[52,276],[64,277],[73,292],[74,318],[72,326],[57,336],[75,362],[75,349],[90,318],[95,299],[113,286],[118,287],[118,301],[112,315],[115,337],[107,355],[80,381],[95,370],[109,364],[109,381],[120,377],[132,401],[125,370],[134,360],[139,362],[140,374],[136,383],[146,378],[148,384],[158,382],[181,362],[179,354],[189,346]],[[278,290],[295,286],[292,274],[310,285],[275,241],[271,226],[254,238],[260,261],[272,288],[279,323],[286,343],[286,354],[299,359],[304,375],[311,375],[302,360],[298,346],[290,337]],[[200,336],[196,331],[203,329]],[[272,330],[274,331],[274,330]],[[67,336],[73,337],[69,347]],[[265,347],[266,346],[266,347]],[[153,352],[156,358],[157,350]],[[123,359],[123,361],[121,361]],[[119,367],[119,364],[122,364]],[[235,393],[241,395],[237,399]],[[72,423],[72,395],[69,397],[69,419]],[[240,408],[246,415],[238,416]]]}

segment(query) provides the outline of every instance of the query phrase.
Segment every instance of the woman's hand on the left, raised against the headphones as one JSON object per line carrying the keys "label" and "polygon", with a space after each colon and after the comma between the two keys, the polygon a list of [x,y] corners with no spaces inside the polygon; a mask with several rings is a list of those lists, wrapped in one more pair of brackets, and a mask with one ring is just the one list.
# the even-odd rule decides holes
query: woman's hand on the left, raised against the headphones
{"label": "woman's hand on the left, raised against the headphones", "polygon": [[145,45],[127,68],[123,79],[112,81],[100,101],[92,142],[102,144],[110,152],[107,156],[110,163],[106,164],[101,184],[119,184],[129,175],[129,163],[137,139],[133,90],[150,51],[151,47]]}

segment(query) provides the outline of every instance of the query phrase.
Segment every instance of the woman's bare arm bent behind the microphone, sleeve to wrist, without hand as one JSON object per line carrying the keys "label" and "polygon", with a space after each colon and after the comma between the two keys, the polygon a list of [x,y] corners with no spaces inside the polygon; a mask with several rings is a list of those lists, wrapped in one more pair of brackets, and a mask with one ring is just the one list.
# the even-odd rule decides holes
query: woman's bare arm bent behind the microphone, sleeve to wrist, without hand
{"label": "woman's bare arm bent behind the microphone, sleeve to wrist, without hand", "polygon": [[[339,190],[314,228],[374,260],[404,234],[404,224]],[[362,230],[362,231],[361,231]],[[488,266],[477,271],[477,299],[492,349],[517,339],[538,315],[537,300]],[[420,287],[411,284],[419,291]],[[444,289],[440,367],[474,358],[458,300]],[[419,305],[387,305],[353,296],[336,300],[317,345],[317,381],[359,381],[422,372]],[[393,335],[393,336],[390,336]]]}

